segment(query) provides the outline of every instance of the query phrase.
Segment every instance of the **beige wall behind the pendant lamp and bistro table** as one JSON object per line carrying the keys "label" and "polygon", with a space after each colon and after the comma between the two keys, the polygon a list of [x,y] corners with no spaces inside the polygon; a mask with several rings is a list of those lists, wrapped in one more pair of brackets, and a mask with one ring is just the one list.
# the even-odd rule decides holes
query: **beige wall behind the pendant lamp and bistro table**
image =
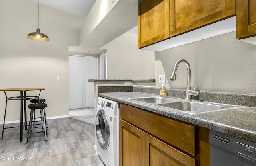
{"label": "beige wall behind the pendant lamp and bistro table", "polygon": [[[68,115],[68,46],[78,45],[78,28],[84,18],[42,4],[39,11],[39,28],[50,38],[47,42],[26,38],[37,28],[37,2],[0,1],[0,88],[45,88],[41,97],[48,104],[47,116]],[[8,94],[19,96],[19,92]],[[27,93],[32,94],[38,92]],[[0,122],[5,100],[0,92]],[[20,102],[8,101],[6,121],[20,119],[19,109]]]}

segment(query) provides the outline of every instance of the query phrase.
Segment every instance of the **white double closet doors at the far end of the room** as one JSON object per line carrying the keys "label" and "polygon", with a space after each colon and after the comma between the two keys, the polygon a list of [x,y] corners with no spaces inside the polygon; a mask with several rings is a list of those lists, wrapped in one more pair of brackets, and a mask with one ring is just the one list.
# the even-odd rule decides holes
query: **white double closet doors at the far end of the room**
{"label": "white double closet doors at the far end of the room", "polygon": [[94,82],[98,76],[98,58],[68,56],[69,63],[69,109],[94,107]]}

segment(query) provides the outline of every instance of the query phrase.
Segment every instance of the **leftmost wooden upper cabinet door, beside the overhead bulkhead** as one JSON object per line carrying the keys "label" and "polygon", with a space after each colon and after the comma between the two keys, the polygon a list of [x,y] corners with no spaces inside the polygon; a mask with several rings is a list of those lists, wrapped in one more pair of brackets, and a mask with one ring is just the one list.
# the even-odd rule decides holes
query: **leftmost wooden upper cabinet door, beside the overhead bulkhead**
{"label": "leftmost wooden upper cabinet door, beside the overhead bulkhead", "polygon": [[138,48],[169,37],[169,0],[138,0]]}

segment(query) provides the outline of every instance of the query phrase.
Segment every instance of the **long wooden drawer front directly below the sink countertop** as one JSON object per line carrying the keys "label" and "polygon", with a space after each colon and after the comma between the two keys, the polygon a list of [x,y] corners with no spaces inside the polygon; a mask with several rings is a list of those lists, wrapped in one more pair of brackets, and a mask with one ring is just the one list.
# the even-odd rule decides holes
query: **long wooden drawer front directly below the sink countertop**
{"label": "long wooden drawer front directly below the sink countertop", "polygon": [[120,119],[193,156],[196,155],[196,127],[192,125],[125,104],[120,104]]}

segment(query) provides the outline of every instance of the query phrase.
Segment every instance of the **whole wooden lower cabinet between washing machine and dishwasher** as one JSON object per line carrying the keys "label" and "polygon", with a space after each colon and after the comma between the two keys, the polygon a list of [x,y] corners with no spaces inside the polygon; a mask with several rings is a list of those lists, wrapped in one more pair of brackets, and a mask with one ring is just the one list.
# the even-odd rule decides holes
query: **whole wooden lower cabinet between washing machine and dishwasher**
{"label": "whole wooden lower cabinet between washing machine and dishwasher", "polygon": [[[154,114],[152,118],[161,119],[162,124],[150,125],[153,121],[153,119],[150,119],[150,114],[154,113],[120,104],[120,166],[210,166],[209,129],[195,127],[196,129],[194,130],[193,136],[194,144],[191,144],[192,149],[195,150],[189,153],[187,152],[188,145],[184,146],[182,144],[187,143],[184,139],[193,140],[191,136],[183,137],[186,133],[192,135],[191,132],[193,130],[191,130],[191,126],[177,121],[177,123],[180,124],[180,130],[179,125],[175,126],[170,124],[171,127],[169,126],[168,131],[166,130],[164,134],[159,134],[153,131],[161,130],[163,128],[162,124],[168,125],[168,123],[164,121],[173,123],[174,120],[170,119],[171,121],[168,121],[168,117]],[[146,123],[145,116],[149,118],[148,128],[144,124]],[[134,123],[137,121],[138,123],[135,125]],[[188,131],[184,128],[186,125]],[[173,127],[176,129],[172,129]],[[172,139],[170,139],[170,142],[164,140],[165,137],[162,135],[168,135],[169,133],[171,133],[169,137],[178,137],[177,135],[180,133],[180,138],[183,138],[180,140],[180,145],[178,145],[176,141],[174,142],[175,145],[170,143]],[[188,144],[190,144],[190,142],[188,142]]]}

